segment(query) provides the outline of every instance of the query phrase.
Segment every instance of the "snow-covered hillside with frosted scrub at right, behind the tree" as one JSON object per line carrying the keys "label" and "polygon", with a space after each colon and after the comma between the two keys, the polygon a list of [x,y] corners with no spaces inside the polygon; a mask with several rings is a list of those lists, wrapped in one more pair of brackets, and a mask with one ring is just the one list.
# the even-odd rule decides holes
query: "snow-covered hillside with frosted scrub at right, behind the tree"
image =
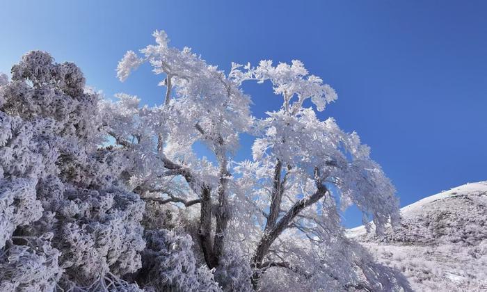
{"label": "snow-covered hillside with frosted scrub at right, behind the tree", "polygon": [[426,197],[401,217],[380,238],[363,226],[347,235],[399,268],[415,291],[487,291],[487,181]]}

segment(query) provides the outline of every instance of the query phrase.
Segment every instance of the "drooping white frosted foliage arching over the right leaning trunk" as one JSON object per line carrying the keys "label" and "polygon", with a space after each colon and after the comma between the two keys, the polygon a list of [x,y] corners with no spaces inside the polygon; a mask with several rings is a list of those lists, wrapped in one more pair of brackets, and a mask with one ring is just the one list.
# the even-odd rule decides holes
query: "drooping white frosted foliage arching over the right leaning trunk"
{"label": "drooping white frosted foliage arching over the right leaning trunk", "polygon": [[378,227],[399,220],[394,186],[369,158],[369,147],[360,144],[356,133],[344,133],[333,118],[319,121],[311,108],[303,108],[296,115],[285,111],[269,113],[260,127],[262,138],[257,138],[253,145],[254,161],[258,164],[251,170],[257,181],[266,178],[271,184],[269,172],[275,161],[280,160],[292,168],[289,182],[295,179],[296,184],[289,184],[289,188],[311,194],[314,188],[307,190],[308,179],[314,176],[312,170],[318,168],[326,183],[340,190],[344,207],[355,203],[365,214],[372,214]]}

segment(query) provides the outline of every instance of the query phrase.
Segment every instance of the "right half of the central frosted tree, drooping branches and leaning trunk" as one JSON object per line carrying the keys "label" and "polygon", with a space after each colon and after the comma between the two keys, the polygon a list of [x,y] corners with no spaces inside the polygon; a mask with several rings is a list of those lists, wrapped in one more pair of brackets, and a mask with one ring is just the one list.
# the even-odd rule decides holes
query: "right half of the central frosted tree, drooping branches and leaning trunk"
{"label": "right half of the central frosted tree, drooping branches and leaning trunk", "polygon": [[[240,213],[244,209],[256,212],[250,217],[239,215],[238,222],[234,222],[236,232],[248,232],[241,237],[252,238],[251,232],[264,230],[264,239],[254,255],[262,262],[260,271],[254,274],[262,278],[260,289],[329,291],[369,287],[374,291],[407,291],[408,282],[397,271],[374,263],[360,245],[344,238],[335,200],[342,202],[343,209],[354,203],[365,218],[372,216],[378,234],[385,225],[396,225],[399,213],[394,187],[381,167],[369,158],[369,147],[360,143],[358,134],[345,133],[333,118],[321,121],[312,108],[303,108],[305,99],[310,98],[322,111],[336,99],[335,91],[322,85],[321,79],[308,76],[299,61],[276,67],[271,61],[262,61],[256,68],[246,65],[244,71],[241,67],[232,65],[230,76],[236,81],[270,80],[274,92],[283,98],[280,111],[269,112],[268,117],[256,122],[260,134],[253,144],[253,161],[237,163],[234,168],[239,177],[235,199],[241,204],[235,207],[242,210]],[[321,184],[326,185],[325,193],[320,190]],[[306,206],[306,200],[316,201],[320,196],[323,199],[316,206],[300,207]],[[273,204],[279,204],[280,210],[271,219]],[[302,210],[296,214],[299,208]],[[279,220],[280,216],[284,217]],[[258,252],[269,244],[267,234],[279,230],[280,222],[287,218],[292,218],[291,229],[282,232],[280,240],[271,243],[262,257]],[[276,223],[270,225],[269,220]],[[256,222],[260,229],[256,230]],[[281,277],[283,268],[287,272]]]}

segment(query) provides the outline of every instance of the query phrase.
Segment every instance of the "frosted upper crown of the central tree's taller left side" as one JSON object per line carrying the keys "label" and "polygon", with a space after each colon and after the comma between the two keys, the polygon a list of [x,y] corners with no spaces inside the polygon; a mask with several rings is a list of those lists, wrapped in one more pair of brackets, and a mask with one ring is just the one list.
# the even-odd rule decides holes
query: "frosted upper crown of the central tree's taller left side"
{"label": "frosted upper crown of the central tree's taller left side", "polygon": [[129,51],[120,61],[119,79],[126,79],[128,72],[142,61],[149,62],[156,74],[165,74],[159,85],[166,86],[166,104],[170,105],[164,111],[167,142],[174,141],[191,152],[188,146],[197,139],[202,140],[223,159],[225,152],[237,149],[238,134],[250,128],[253,118],[249,97],[237,82],[217,67],[207,65],[191,49],[169,47],[163,31],[155,31],[153,35],[157,44],[142,49],[143,57],[138,58]]}

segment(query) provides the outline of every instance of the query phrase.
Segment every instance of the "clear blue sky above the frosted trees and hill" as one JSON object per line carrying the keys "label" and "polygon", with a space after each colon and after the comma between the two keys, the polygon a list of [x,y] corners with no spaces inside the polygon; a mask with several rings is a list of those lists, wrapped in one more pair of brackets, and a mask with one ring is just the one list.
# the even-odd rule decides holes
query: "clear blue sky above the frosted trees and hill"
{"label": "clear blue sky above the frosted trees and hill", "polygon": [[[125,51],[152,44],[155,29],[223,70],[302,60],[338,93],[319,116],[372,147],[401,206],[487,179],[487,1],[0,0],[0,72],[42,49],[77,63],[106,96],[159,104],[149,67],[115,78]],[[257,117],[280,106],[269,84],[244,90]],[[250,158],[250,143],[237,159]],[[344,223],[360,216],[351,209]]]}

